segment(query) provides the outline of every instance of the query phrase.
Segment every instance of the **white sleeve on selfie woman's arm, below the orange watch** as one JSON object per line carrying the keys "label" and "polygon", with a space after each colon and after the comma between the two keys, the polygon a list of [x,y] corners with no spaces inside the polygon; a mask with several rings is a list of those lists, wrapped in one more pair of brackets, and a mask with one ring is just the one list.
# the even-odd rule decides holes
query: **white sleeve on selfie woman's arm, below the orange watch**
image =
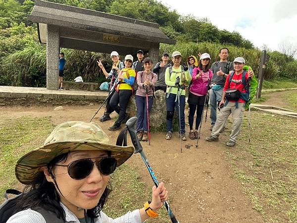
{"label": "white sleeve on selfie woman's arm, below the orange watch", "polygon": [[100,212],[100,216],[102,223],[142,223],[139,210],[135,210],[133,212],[129,211],[126,215],[123,215],[116,219],[109,218],[103,212]]}

